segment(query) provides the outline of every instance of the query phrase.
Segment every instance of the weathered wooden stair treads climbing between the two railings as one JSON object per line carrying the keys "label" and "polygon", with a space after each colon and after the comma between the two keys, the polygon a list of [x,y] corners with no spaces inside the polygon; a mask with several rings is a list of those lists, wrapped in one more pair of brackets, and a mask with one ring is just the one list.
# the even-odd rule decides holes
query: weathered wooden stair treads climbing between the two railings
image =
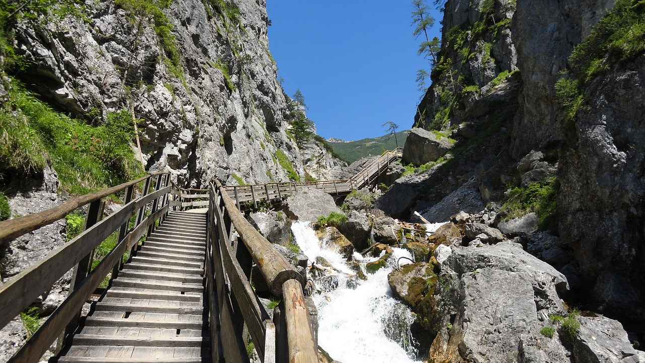
{"label": "weathered wooden stair treads climbing between the two railings", "polygon": [[172,211],[54,362],[210,362],[206,210]]}

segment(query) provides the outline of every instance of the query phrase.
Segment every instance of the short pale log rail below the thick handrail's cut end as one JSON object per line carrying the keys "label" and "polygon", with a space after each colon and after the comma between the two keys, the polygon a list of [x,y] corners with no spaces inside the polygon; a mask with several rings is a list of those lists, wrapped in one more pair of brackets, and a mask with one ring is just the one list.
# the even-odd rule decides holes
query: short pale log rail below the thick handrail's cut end
{"label": "short pale log rail below the thick handrail's cut end", "polygon": [[289,362],[318,363],[303,288],[299,281],[288,280],[284,282],[283,290]]}

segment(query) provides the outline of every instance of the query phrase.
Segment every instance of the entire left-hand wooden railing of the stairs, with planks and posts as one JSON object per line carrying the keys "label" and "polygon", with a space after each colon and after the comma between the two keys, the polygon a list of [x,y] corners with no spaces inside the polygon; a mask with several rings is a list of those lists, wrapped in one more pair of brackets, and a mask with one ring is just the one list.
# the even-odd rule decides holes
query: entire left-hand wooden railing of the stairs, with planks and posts
{"label": "entire left-hand wooden railing of the stairs, with planks and posts", "polygon": [[[153,182],[154,190],[151,191]],[[143,183],[141,192],[135,197],[135,189],[140,183]],[[102,219],[104,199],[122,191],[123,207]],[[112,272],[111,279],[114,279],[121,268],[124,253],[129,251],[132,256],[139,239],[146,231],[152,232],[155,221],[163,219],[168,211],[169,192],[170,174],[152,173],[113,188],[69,199],[50,210],[0,222],[0,243],[6,244],[89,204],[82,233],[0,286],[0,327],[4,327],[43,291],[74,269],[68,297],[8,362],[38,362],[57,338],[75,331],[81,308],[90,294],[108,273]],[[148,211],[150,215],[146,216]],[[91,269],[95,248],[117,231],[116,246]]]}

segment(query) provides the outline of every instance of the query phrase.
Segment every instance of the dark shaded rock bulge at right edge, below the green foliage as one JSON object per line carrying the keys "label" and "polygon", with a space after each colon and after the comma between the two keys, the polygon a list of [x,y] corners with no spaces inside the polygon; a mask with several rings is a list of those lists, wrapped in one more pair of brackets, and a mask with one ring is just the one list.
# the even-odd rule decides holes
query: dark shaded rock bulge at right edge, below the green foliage
{"label": "dark shaded rock bulge at right edge, below the green foliage", "polygon": [[561,237],[580,264],[592,306],[645,322],[645,56],[588,86],[588,110],[561,159]]}

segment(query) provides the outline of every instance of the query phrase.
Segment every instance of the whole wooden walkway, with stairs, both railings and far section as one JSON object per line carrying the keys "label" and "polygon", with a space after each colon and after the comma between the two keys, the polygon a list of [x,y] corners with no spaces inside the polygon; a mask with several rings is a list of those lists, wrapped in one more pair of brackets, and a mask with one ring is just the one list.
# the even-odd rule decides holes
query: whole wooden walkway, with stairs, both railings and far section
{"label": "whole wooden walkway, with stairs, both railings and far section", "polygon": [[[348,193],[375,180],[399,155],[386,152],[345,181],[261,188],[213,181],[208,190],[186,190],[169,173],[151,173],[0,222],[2,246],[86,209],[82,233],[0,286],[4,327],[73,271],[68,297],[8,362],[38,362],[55,342],[52,362],[247,363],[252,351],[263,363],[318,362],[317,318],[303,295],[305,279],[246,221],[240,202],[282,199],[313,185]],[[123,206],[102,219],[109,197],[123,198]],[[117,244],[92,268],[95,248],[110,236]],[[281,299],[273,319],[250,283],[253,265]],[[104,281],[109,287],[81,317]]]}

